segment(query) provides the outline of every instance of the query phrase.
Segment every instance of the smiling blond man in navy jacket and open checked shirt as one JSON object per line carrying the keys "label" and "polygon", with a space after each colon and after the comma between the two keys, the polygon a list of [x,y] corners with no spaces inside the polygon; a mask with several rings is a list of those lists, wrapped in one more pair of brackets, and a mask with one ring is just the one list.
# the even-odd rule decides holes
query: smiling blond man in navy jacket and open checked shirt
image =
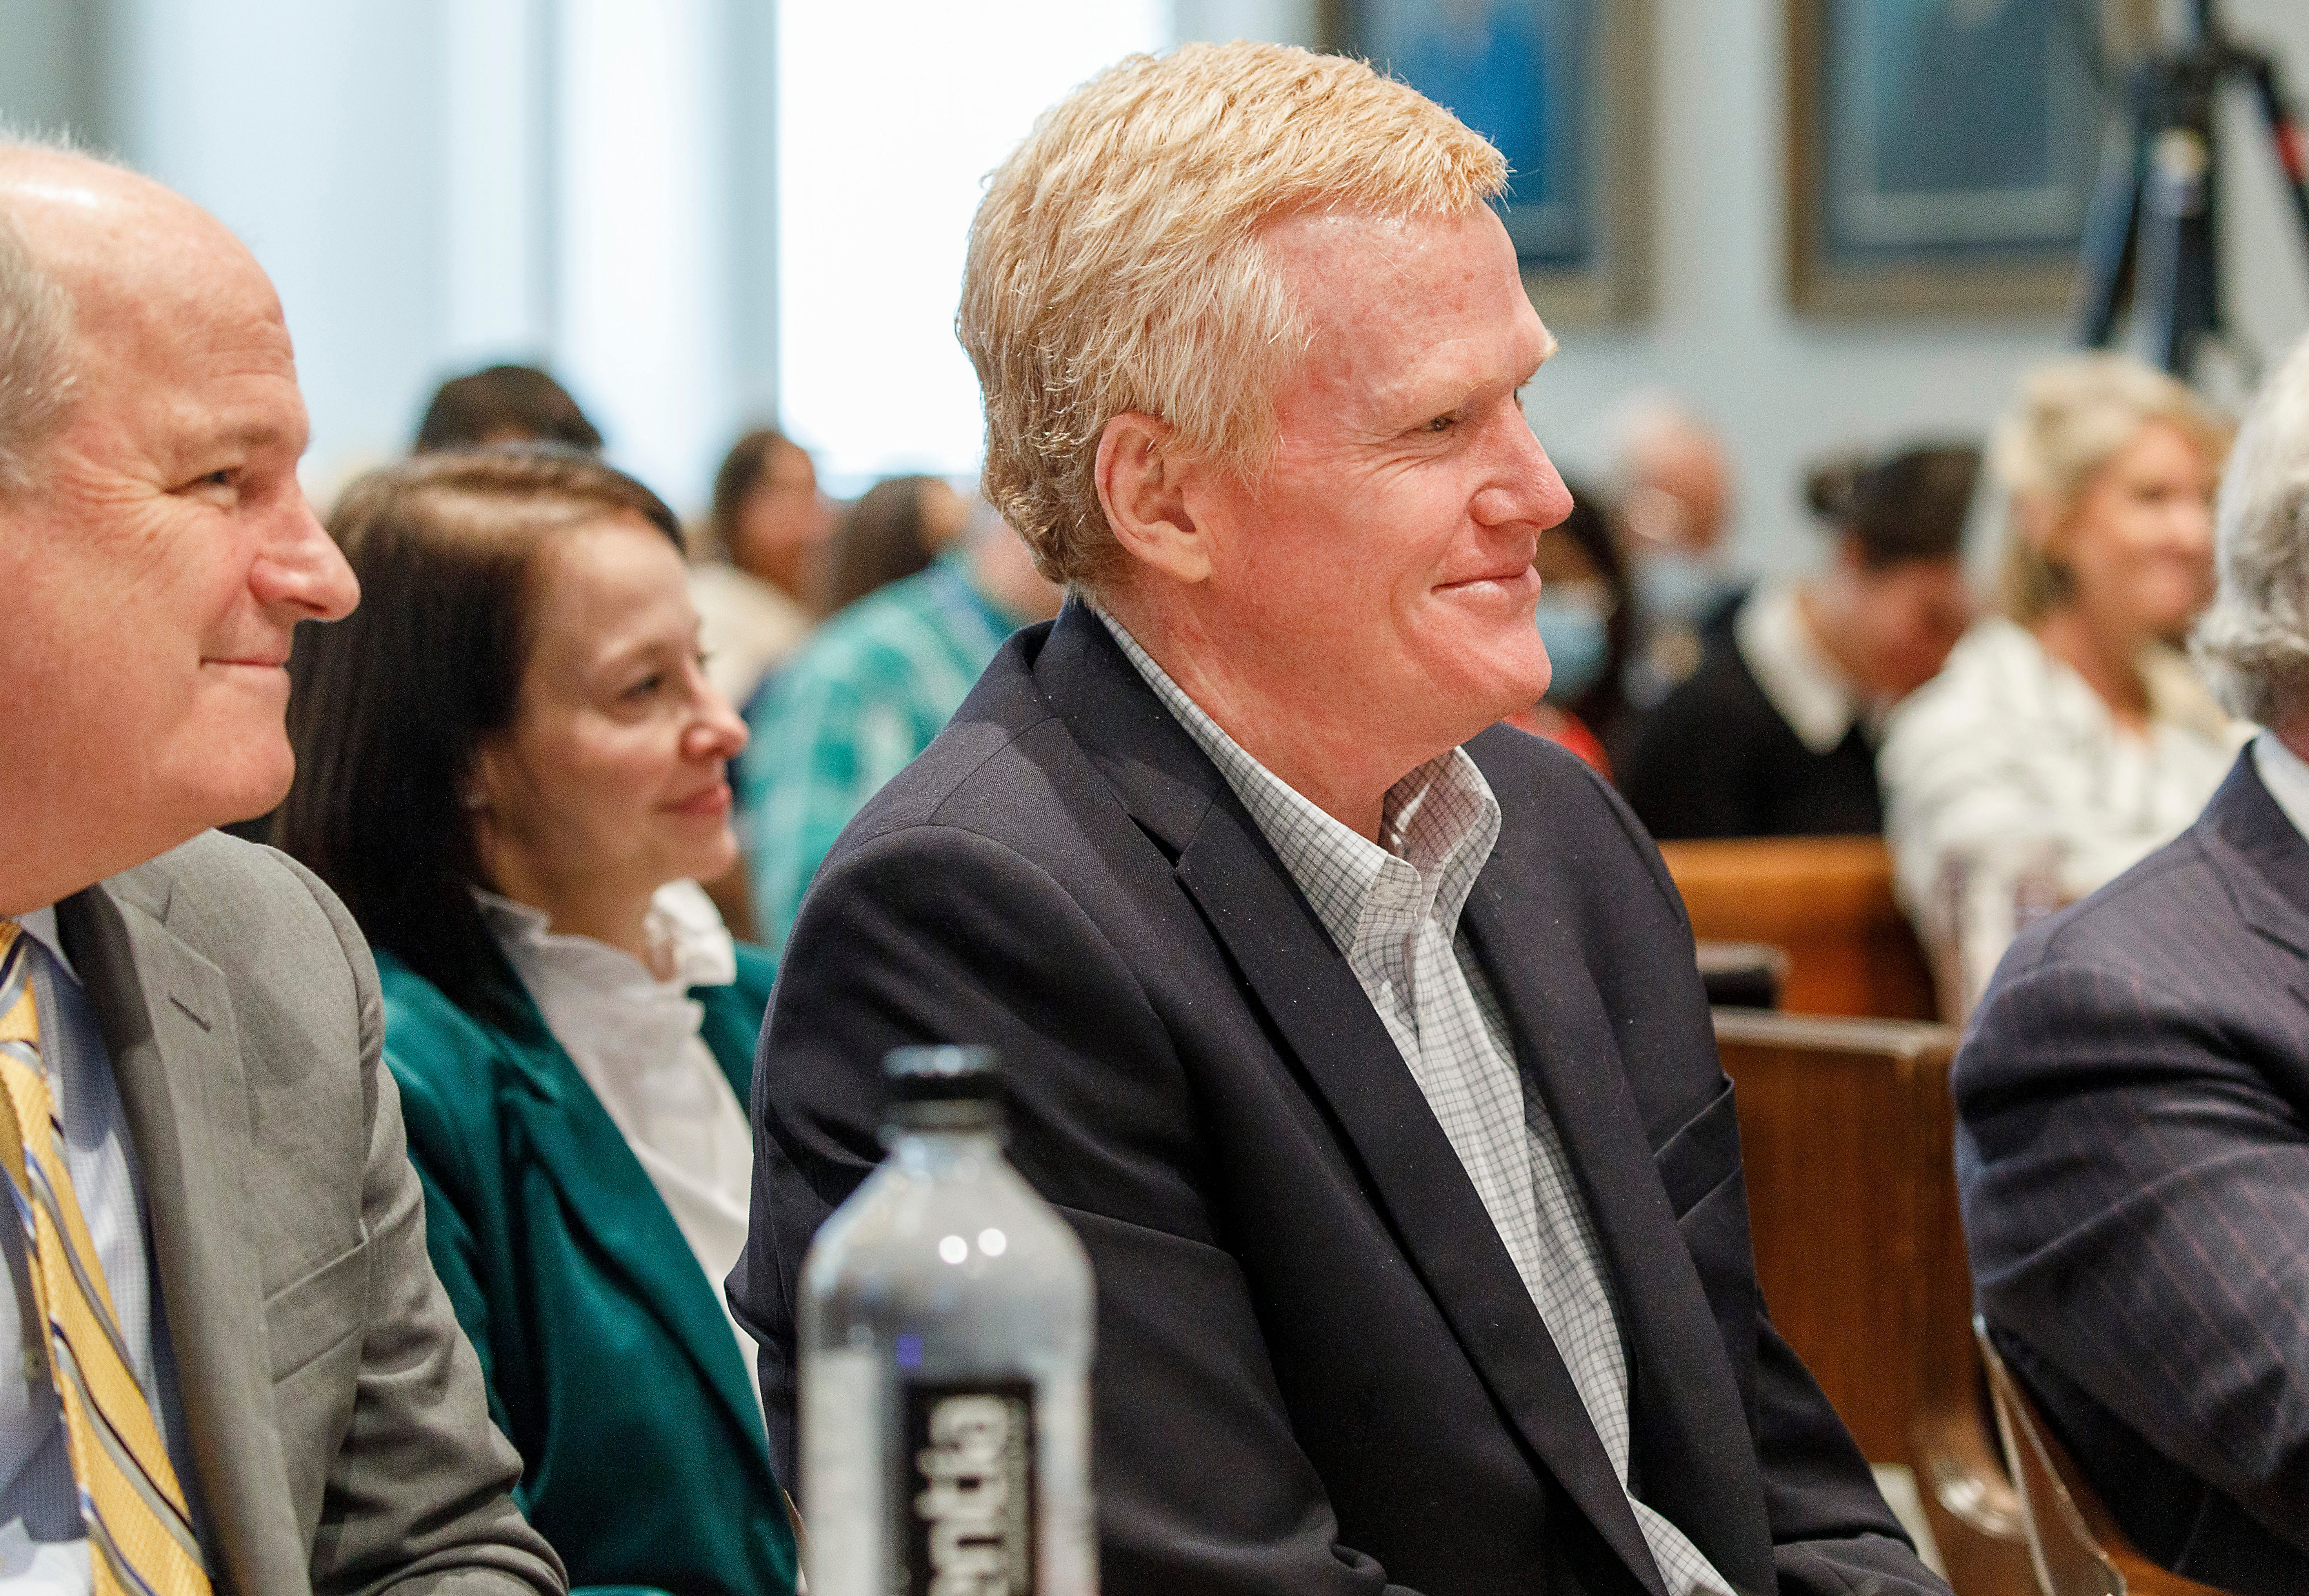
{"label": "smiling blond man in navy jacket and open checked shirt", "polygon": [[1658,855],[1494,728],[1568,510],[1501,182],[1275,46],[1127,60],[995,173],[986,483],[1074,601],[801,905],[732,1277],[771,1430],[875,1060],[988,1042],[1097,1266],[1106,1591],[1937,1591],[1757,1310]]}

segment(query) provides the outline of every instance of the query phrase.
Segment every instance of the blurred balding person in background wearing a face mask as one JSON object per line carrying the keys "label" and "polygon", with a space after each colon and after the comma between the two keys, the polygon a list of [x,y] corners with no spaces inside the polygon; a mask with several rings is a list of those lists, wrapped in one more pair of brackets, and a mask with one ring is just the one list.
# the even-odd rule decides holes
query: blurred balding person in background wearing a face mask
{"label": "blurred balding person in background wearing a face mask", "polygon": [[1699,670],[1706,633],[1725,621],[1736,594],[1725,573],[1732,457],[1681,400],[1646,393],[1612,420],[1612,478],[1644,612],[1628,698],[1651,709]]}

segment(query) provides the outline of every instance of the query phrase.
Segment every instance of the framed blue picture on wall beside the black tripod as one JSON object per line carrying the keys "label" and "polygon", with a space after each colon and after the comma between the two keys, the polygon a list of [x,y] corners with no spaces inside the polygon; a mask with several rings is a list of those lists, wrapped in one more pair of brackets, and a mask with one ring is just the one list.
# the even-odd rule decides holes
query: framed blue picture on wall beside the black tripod
{"label": "framed blue picture on wall beside the black tripod", "polygon": [[2108,72],[2101,0],[1789,0],[1796,307],[2062,307]]}

